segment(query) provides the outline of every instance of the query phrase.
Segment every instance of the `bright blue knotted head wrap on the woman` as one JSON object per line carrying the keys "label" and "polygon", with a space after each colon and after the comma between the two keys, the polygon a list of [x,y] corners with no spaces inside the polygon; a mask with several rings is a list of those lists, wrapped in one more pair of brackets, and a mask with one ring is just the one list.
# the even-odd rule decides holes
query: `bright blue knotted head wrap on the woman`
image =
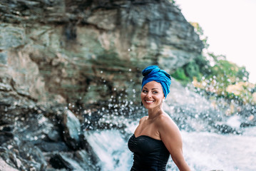
{"label": "bright blue knotted head wrap on the woman", "polygon": [[144,78],[142,80],[141,89],[146,83],[156,81],[161,84],[165,98],[168,93],[170,93],[170,75],[164,70],[161,70],[158,66],[148,66],[142,71],[142,75]]}

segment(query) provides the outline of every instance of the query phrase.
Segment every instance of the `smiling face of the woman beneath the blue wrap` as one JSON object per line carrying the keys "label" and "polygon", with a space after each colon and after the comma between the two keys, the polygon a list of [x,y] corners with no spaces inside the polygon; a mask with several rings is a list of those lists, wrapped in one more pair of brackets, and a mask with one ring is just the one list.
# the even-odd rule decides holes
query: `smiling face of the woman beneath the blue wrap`
{"label": "smiling face of the woman beneath the blue wrap", "polygon": [[140,98],[145,108],[153,109],[158,107],[163,98],[165,98],[161,84],[156,81],[146,83],[141,90]]}

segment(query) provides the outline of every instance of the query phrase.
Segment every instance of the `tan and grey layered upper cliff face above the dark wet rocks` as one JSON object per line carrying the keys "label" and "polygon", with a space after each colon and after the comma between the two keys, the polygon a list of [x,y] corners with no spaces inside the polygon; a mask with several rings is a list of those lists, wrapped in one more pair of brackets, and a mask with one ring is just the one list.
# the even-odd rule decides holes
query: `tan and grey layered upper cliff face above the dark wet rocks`
{"label": "tan and grey layered upper cliff face above the dark wet rocks", "polygon": [[203,48],[164,0],[4,0],[0,11],[0,88],[42,103],[134,100],[143,68],[171,72]]}

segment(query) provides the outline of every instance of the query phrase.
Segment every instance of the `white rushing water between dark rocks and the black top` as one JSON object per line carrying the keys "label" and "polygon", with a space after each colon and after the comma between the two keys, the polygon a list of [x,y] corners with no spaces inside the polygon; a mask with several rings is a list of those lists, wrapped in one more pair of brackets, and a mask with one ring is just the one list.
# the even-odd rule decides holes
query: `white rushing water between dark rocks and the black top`
{"label": "white rushing water between dark rocks and the black top", "polygon": [[88,131],[85,136],[100,158],[103,171],[123,171],[131,167],[132,154],[120,131]]}

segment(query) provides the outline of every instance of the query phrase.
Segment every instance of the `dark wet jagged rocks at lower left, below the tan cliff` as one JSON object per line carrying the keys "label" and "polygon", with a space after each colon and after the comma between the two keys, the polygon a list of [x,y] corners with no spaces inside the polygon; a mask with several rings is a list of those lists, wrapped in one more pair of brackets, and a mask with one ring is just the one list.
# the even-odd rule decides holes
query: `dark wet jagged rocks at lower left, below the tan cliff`
{"label": "dark wet jagged rocks at lower left, below the tan cliff", "polygon": [[99,170],[101,163],[85,143],[80,121],[70,110],[32,102],[0,107],[4,108],[0,118],[4,170]]}

